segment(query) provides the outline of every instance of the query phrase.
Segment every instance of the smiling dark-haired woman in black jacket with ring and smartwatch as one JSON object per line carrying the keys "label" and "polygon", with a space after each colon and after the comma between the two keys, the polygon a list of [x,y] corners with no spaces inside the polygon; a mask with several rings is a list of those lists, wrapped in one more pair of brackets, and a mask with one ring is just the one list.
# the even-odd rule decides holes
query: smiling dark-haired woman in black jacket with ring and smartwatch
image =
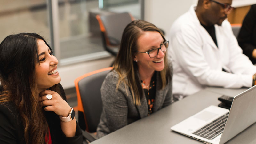
{"label": "smiling dark-haired woman in black jacket with ring and smartwatch", "polygon": [[7,36],[0,44],[0,143],[81,144],[58,60],[43,37]]}

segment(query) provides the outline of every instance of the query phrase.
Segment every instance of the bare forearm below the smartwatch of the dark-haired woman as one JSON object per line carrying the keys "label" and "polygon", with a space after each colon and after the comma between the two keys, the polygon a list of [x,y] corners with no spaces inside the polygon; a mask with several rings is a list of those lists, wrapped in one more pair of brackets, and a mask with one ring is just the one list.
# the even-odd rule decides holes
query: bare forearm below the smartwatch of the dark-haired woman
{"label": "bare forearm below the smartwatch of the dark-haired woman", "polygon": [[66,137],[74,137],[76,134],[76,118],[69,122],[60,121],[62,132]]}

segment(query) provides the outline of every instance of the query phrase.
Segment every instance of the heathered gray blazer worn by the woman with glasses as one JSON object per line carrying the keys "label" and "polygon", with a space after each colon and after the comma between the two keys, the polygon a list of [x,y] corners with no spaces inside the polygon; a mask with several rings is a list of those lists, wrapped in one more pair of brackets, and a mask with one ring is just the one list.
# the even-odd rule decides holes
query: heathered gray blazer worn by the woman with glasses
{"label": "heathered gray blazer worn by the woman with glasses", "polygon": [[[157,72],[156,97],[153,106],[153,112],[168,106],[172,102],[172,65],[169,64],[171,79],[166,87],[161,90],[160,73]],[[119,75],[111,71],[106,76],[101,86],[101,97],[103,110],[100,117],[100,123],[97,128],[97,138],[103,137],[114,132],[127,124],[148,116],[148,104],[145,94],[140,100],[141,105],[133,104],[132,94],[128,85],[120,83],[117,91],[116,85]]]}

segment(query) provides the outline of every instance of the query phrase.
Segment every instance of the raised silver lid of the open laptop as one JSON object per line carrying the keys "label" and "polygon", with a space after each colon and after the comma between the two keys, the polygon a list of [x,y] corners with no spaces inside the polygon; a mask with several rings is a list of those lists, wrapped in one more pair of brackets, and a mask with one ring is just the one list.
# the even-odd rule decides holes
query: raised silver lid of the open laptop
{"label": "raised silver lid of the open laptop", "polygon": [[234,97],[220,143],[223,144],[256,122],[256,86]]}

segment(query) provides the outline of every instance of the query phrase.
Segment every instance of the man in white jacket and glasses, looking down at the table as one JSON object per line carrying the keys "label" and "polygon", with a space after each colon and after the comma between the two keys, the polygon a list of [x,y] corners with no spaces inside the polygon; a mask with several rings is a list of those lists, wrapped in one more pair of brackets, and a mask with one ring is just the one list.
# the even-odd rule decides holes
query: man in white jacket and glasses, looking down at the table
{"label": "man in white jacket and glasses, looking down at the table", "polygon": [[232,0],[198,0],[172,25],[169,56],[176,100],[205,86],[253,86],[256,66],[242,54],[226,20]]}

